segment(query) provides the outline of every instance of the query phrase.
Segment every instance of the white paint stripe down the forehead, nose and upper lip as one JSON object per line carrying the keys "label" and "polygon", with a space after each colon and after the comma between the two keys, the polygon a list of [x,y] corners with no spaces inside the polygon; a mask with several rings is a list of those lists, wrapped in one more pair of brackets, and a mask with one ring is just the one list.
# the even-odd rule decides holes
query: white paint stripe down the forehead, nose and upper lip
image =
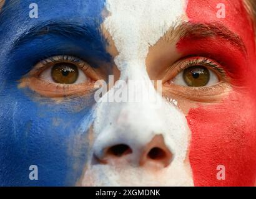
{"label": "white paint stripe down the forehead, nose and upper lip", "polygon": [[[154,45],[170,28],[179,25],[185,13],[185,1],[180,0],[108,0],[110,16],[104,21],[119,55],[115,63],[121,71],[121,80],[139,80],[130,95],[138,96],[147,90],[149,98],[139,103],[107,103],[115,88],[108,91],[96,107],[93,152],[101,157],[104,149],[116,144],[132,148],[131,164],[89,164],[82,185],[193,185],[189,163],[185,161],[189,127],[172,100],[167,101],[155,91],[145,67],[150,45]],[[127,82],[129,89],[129,82]],[[143,92],[142,92],[143,90]],[[159,106],[160,101],[160,106]],[[165,145],[174,154],[171,164],[157,172],[139,167],[142,148],[156,135],[164,137]],[[137,164],[136,164],[137,163]]]}

